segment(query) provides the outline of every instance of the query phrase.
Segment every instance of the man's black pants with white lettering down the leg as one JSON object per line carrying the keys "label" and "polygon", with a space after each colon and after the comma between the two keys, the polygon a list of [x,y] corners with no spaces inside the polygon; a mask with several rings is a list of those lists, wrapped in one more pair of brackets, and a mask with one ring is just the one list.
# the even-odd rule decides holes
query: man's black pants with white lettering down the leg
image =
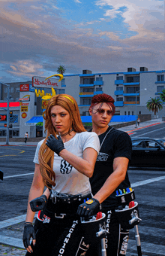
{"label": "man's black pants with white lettering down the leg", "polygon": [[[107,256],[126,255],[129,230],[124,230],[121,227],[121,224],[118,223],[114,210],[110,210],[105,213],[107,215],[106,229],[109,232],[105,239]],[[101,242],[93,242],[92,245],[90,245],[86,256],[92,255],[101,255]]]}

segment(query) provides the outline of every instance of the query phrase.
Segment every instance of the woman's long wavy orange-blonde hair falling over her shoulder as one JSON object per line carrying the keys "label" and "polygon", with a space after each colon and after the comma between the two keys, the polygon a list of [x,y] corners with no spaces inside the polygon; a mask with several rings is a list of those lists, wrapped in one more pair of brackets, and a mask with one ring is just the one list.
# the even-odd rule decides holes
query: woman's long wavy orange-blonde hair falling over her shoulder
{"label": "woman's long wavy orange-blonde hair falling over her shoulder", "polygon": [[57,138],[57,133],[51,120],[51,108],[55,105],[65,108],[65,110],[67,110],[70,114],[71,127],[69,127],[68,132],[71,129],[73,129],[76,133],[86,132],[80,117],[77,102],[74,97],[68,94],[59,94],[49,99],[46,110],[43,112],[43,118],[45,120],[45,132],[47,131],[47,135],[46,139],[43,141],[43,144],[40,146],[39,151],[40,174],[43,177],[43,183],[49,188],[55,186],[55,172],[52,170],[54,152],[46,146],[46,140],[50,134]]}

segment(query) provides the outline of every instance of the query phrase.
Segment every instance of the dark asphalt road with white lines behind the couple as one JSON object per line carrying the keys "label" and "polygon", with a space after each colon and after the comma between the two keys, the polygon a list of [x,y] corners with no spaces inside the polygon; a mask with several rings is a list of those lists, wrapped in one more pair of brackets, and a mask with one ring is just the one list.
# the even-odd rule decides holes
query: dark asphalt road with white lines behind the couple
{"label": "dark asphalt road with white lines behind the couple", "polygon": [[[131,136],[165,137],[164,124],[136,130]],[[4,172],[4,181],[0,181],[1,221],[26,214],[28,192],[34,172],[34,152],[36,147],[5,146],[0,147],[0,169]],[[139,203],[139,235],[142,242],[142,255],[165,255],[165,219],[164,185],[165,170],[158,168],[128,169],[130,182]],[[161,177],[161,178],[159,178]],[[140,183],[143,181],[142,183]],[[133,230],[130,230],[128,252],[136,255],[136,242]],[[130,254],[127,253],[127,256]]]}

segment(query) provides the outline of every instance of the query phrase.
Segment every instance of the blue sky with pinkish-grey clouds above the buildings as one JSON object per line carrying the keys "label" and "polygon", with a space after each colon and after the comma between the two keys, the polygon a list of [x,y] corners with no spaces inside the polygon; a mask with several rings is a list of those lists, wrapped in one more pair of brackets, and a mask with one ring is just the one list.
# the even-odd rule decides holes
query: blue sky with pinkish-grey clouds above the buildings
{"label": "blue sky with pinkish-grey clouds above the buildings", "polygon": [[164,66],[163,0],[0,0],[0,81]]}

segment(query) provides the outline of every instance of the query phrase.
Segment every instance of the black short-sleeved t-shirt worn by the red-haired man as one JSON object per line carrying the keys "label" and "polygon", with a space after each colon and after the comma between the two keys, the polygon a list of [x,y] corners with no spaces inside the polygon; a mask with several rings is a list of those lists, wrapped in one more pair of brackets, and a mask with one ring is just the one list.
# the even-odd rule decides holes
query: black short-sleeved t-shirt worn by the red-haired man
{"label": "black short-sleeved t-shirt worn by the red-haired man", "polygon": [[[132,142],[127,133],[115,130],[115,128],[109,126],[107,131],[98,137],[100,139],[101,149],[95,163],[94,174],[90,178],[92,194],[94,195],[103,187],[104,182],[113,173],[114,158],[126,157],[131,160],[132,153]],[[130,187],[130,181],[126,173],[124,181],[119,184],[116,190],[126,189],[127,187]],[[118,206],[115,191],[102,203],[104,210],[115,209]]]}

